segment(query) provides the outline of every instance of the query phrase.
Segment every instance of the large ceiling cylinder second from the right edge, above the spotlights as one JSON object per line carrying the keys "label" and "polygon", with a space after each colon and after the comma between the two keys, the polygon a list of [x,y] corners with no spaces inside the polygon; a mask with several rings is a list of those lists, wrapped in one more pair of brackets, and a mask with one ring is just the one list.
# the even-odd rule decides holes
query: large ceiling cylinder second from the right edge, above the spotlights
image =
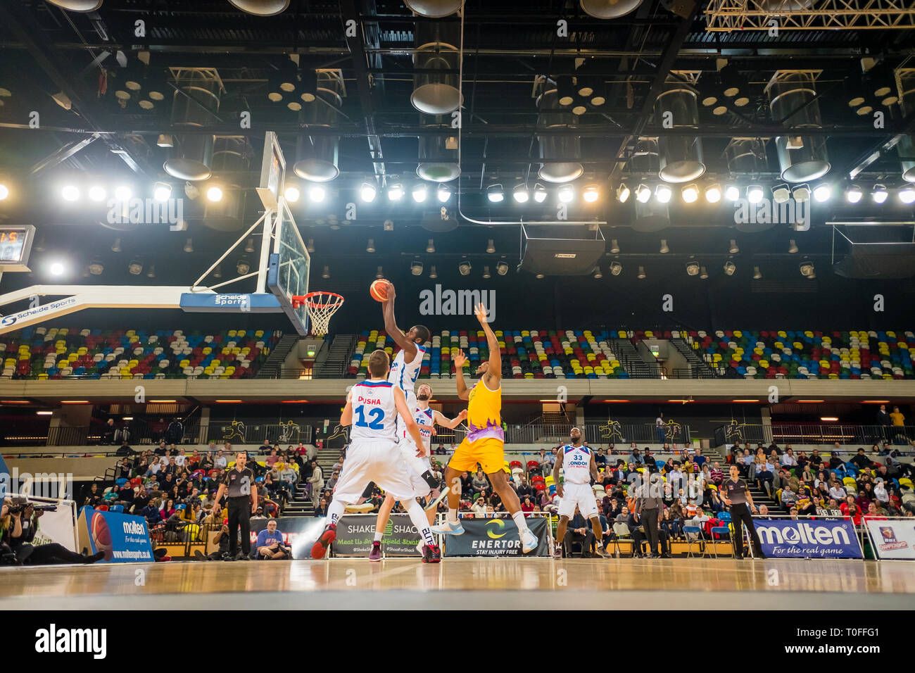
{"label": "large ceiling cylinder second from the right edge, above the spotlights", "polygon": [[[820,128],[820,104],[813,100],[813,72],[777,71],[769,82],[770,109],[776,124],[796,128]],[[809,182],[829,172],[824,136],[779,136],[775,138],[781,179]]]}

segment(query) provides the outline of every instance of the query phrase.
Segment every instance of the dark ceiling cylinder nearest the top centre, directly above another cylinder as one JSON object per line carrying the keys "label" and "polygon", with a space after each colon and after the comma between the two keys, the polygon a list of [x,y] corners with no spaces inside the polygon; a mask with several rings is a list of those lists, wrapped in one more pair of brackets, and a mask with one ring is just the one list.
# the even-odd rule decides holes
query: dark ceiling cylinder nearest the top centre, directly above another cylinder
{"label": "dark ceiling cylinder nearest the top centre, directly above another cylinder", "polygon": [[410,103],[425,114],[448,114],[464,103],[458,91],[458,24],[416,23],[413,93]]}

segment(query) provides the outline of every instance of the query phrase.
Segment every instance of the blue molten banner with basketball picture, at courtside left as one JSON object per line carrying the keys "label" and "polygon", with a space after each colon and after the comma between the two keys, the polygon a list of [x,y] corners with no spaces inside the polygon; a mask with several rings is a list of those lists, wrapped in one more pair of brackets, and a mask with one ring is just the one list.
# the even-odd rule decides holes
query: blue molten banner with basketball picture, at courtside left
{"label": "blue molten banner with basketball picture, at courtside left", "polygon": [[102,563],[153,561],[153,546],[143,516],[103,512],[83,507],[77,522],[80,548],[104,552]]}

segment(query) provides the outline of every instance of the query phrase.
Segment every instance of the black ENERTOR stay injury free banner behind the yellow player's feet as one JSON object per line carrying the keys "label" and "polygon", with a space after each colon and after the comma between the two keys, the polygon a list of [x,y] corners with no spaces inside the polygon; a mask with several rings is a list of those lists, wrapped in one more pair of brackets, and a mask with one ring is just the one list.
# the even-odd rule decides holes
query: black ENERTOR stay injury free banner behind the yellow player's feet
{"label": "black ENERTOR stay injury free banner behind the yellow player's feet", "polygon": [[544,516],[529,516],[527,526],[537,536],[538,544],[530,554],[523,554],[518,526],[511,518],[461,519],[464,535],[443,536],[445,556],[551,556],[550,531]]}

